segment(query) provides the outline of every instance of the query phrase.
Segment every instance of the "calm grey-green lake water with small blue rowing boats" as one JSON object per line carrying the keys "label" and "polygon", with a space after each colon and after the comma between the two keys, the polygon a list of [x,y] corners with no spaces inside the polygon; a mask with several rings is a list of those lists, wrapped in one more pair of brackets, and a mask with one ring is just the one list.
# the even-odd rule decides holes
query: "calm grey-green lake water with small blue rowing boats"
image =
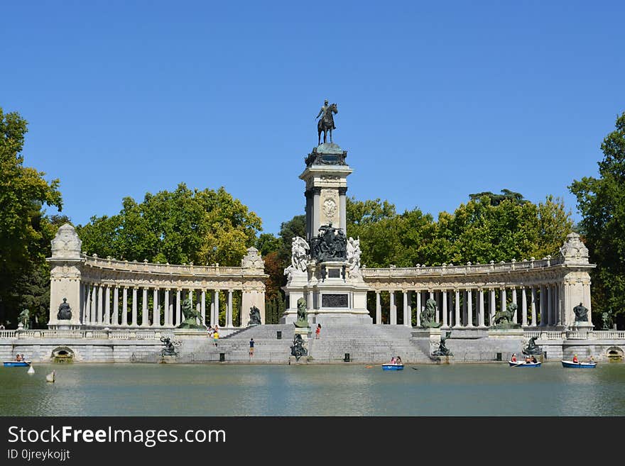
{"label": "calm grey-green lake water with small blue rowing boats", "polygon": [[[0,367],[1,416],[625,416],[625,364]],[[56,371],[56,382],[45,375]]]}

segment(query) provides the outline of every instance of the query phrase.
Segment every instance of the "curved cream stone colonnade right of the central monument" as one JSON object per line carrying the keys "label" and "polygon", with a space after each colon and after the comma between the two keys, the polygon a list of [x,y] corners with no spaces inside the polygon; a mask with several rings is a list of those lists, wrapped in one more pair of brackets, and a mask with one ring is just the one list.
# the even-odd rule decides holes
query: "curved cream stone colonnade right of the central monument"
{"label": "curved cream stone colonnade right of the central monument", "polygon": [[[377,324],[420,326],[425,301],[436,301],[443,328],[486,328],[498,311],[516,304],[513,322],[529,327],[572,326],[582,303],[590,322],[590,277],[594,265],[577,233],[567,235],[558,257],[441,267],[362,268],[375,294]],[[382,301],[386,309],[383,321]],[[401,311],[398,311],[401,309]]]}

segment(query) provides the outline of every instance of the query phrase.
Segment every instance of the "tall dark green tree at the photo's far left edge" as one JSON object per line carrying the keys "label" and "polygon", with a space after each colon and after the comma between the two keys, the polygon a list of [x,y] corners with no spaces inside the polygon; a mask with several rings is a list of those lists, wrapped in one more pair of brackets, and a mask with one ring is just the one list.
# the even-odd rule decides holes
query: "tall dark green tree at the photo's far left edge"
{"label": "tall dark green tree at the photo's far left edge", "polygon": [[[23,166],[27,126],[18,113],[0,108],[0,321],[11,324],[28,305],[41,309],[45,257],[56,231],[43,206],[62,209],[59,180],[46,182],[44,172]],[[26,279],[39,272],[36,284]]]}

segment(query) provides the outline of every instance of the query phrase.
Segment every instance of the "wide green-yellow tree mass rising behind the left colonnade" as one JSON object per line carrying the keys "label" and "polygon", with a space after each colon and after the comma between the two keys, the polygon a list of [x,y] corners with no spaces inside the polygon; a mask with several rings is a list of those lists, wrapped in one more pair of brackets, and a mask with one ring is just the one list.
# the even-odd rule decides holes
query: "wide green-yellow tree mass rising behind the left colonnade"
{"label": "wide green-yellow tree mass rising behind the left colonnade", "polygon": [[240,265],[257,241],[261,219],[221,187],[147,193],[141,204],[130,197],[119,214],[92,217],[77,233],[87,253],[124,260]]}

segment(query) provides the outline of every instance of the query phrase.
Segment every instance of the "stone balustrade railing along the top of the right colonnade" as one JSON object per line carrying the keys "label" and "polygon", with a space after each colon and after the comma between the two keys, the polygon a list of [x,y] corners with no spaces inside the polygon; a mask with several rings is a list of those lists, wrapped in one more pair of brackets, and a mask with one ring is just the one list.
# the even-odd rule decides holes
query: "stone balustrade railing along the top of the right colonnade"
{"label": "stone balustrade railing along the top of the right colonnade", "polygon": [[540,260],[522,260],[521,262],[490,262],[489,264],[467,265],[440,265],[437,267],[363,267],[362,276],[366,278],[377,277],[404,277],[415,275],[467,275],[496,272],[510,272],[512,270],[534,270],[552,267],[564,263],[563,257],[548,257]]}

